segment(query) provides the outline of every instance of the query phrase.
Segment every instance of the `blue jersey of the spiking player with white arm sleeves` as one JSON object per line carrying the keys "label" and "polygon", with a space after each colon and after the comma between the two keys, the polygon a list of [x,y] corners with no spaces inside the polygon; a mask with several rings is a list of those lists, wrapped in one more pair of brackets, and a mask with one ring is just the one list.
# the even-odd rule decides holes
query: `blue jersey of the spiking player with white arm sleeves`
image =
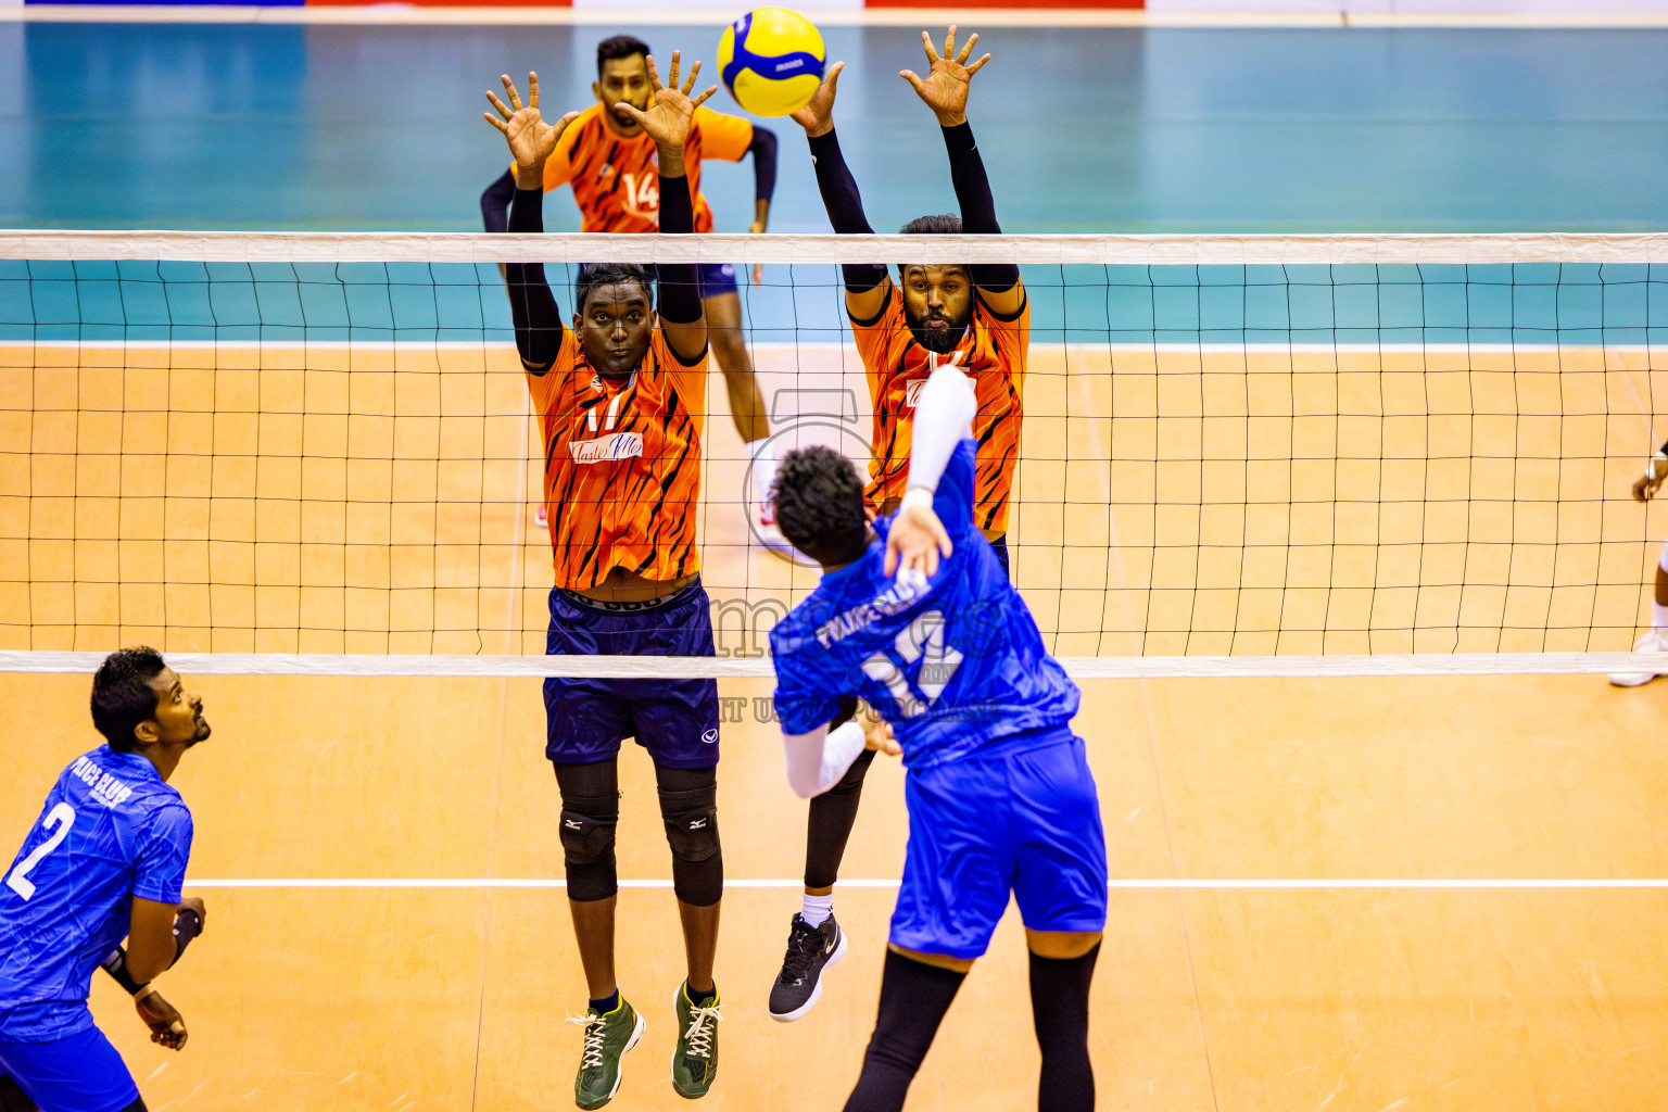
{"label": "blue jersey of the spiking player with white arm sleeves", "polygon": [[931,582],[882,574],[892,522],[879,518],[862,559],[826,572],[771,630],[784,732],[809,734],[837,695],[861,695],[892,724],[904,764],[927,769],[1078,714],[1078,685],[972,523],[976,447],[956,447],[932,497],[954,552]]}

